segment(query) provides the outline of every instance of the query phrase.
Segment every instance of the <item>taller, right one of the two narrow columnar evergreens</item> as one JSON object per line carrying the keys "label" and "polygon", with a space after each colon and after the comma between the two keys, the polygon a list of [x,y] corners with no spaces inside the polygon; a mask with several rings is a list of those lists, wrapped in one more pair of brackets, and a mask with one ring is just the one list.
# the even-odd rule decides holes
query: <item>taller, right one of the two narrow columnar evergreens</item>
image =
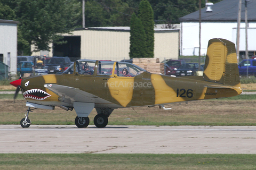
{"label": "taller, right one of the two narrow columnar evergreens", "polygon": [[141,20],[146,34],[147,57],[154,57],[154,12],[147,0],[142,0],[139,6],[138,18]]}

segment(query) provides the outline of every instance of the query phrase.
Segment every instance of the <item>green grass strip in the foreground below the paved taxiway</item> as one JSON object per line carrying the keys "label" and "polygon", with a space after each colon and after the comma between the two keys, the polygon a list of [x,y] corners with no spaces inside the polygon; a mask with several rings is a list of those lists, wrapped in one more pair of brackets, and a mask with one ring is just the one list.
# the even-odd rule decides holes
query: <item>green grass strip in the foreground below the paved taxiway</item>
{"label": "green grass strip in the foreground below the paved taxiway", "polygon": [[246,154],[0,154],[0,169],[256,169]]}

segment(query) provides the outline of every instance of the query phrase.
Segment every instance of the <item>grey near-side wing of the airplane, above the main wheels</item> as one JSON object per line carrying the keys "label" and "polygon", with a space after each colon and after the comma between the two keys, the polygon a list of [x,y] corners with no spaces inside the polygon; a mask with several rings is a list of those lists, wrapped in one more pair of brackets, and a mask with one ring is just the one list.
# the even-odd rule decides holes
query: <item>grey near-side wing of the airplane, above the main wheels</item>
{"label": "grey near-side wing of the airplane, above the main wheels", "polygon": [[99,98],[98,96],[92,95],[89,92],[85,92],[73,87],[61,86],[58,84],[44,84],[44,87],[58,95],[60,97],[59,99],[65,103],[73,104],[74,101],[76,101],[83,103],[94,103],[95,107],[122,107],[105,99]]}

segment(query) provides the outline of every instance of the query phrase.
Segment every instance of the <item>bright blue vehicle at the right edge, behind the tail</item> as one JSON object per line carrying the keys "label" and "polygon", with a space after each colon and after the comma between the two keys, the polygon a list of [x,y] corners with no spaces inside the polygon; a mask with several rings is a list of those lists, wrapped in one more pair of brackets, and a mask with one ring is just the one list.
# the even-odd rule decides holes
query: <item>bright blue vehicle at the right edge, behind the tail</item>
{"label": "bright blue vehicle at the right edge, behind the tail", "polygon": [[249,59],[249,60],[245,59],[238,64],[239,75],[247,75],[247,69],[248,69],[248,75],[254,75],[254,77],[256,77],[256,60],[255,59]]}

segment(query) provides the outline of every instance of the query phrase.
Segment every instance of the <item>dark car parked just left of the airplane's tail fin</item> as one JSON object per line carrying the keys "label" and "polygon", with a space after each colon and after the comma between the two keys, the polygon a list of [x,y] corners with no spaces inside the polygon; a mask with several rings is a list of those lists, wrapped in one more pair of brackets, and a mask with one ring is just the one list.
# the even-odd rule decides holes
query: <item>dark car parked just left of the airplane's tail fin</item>
{"label": "dark car parked just left of the airplane's tail fin", "polygon": [[[176,76],[190,76],[195,75],[196,71],[198,71],[199,64],[198,63],[186,63],[182,64],[179,69],[176,71]],[[199,71],[204,71],[204,67],[200,66]]]}

